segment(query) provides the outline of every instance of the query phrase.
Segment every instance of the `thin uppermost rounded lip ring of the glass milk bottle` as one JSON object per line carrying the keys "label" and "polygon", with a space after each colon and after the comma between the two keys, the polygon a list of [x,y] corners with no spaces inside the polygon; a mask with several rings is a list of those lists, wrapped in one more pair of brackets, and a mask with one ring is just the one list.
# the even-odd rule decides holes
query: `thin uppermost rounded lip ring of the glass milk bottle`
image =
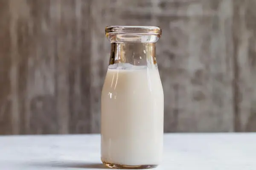
{"label": "thin uppermost rounded lip ring of the glass milk bottle", "polygon": [[157,26],[107,26],[105,34],[148,34],[161,35],[162,30]]}

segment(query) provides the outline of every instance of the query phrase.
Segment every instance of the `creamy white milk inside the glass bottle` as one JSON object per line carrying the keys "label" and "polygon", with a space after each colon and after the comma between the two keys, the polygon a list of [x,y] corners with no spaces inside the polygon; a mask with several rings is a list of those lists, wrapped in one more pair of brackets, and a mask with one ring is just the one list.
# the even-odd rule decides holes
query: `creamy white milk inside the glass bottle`
{"label": "creamy white milk inside the glass bottle", "polygon": [[101,102],[102,161],[131,166],[159,164],[163,88],[158,69],[108,69]]}

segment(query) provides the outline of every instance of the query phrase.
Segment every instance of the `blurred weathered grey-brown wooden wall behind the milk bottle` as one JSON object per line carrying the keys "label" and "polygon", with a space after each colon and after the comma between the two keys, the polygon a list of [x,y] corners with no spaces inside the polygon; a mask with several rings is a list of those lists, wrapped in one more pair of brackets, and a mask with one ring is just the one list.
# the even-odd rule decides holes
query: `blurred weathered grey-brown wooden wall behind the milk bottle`
{"label": "blurred weathered grey-brown wooden wall behind the milk bottle", "polygon": [[256,131],[256,0],[0,0],[0,134],[99,133],[108,25],[163,29],[165,132]]}

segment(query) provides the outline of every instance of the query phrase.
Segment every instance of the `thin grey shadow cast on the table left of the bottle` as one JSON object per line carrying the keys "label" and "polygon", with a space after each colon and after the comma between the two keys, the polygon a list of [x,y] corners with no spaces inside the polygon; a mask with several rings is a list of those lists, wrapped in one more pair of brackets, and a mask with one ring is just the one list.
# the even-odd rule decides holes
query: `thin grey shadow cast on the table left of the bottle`
{"label": "thin grey shadow cast on the table left of the bottle", "polygon": [[84,169],[109,169],[102,163],[88,163],[88,162],[64,162],[64,161],[50,161],[50,162],[29,162],[29,166],[33,167],[63,167],[63,168],[84,168]]}

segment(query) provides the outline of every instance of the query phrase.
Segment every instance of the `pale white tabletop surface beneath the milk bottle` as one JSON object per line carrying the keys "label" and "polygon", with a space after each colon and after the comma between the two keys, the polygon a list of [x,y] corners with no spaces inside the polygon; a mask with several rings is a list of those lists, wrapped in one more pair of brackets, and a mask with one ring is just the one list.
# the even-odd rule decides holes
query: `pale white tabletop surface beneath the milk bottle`
{"label": "pale white tabletop surface beneath the milk bottle", "polygon": [[[99,135],[0,136],[0,170],[102,170]],[[166,134],[157,170],[256,170],[256,133]]]}

